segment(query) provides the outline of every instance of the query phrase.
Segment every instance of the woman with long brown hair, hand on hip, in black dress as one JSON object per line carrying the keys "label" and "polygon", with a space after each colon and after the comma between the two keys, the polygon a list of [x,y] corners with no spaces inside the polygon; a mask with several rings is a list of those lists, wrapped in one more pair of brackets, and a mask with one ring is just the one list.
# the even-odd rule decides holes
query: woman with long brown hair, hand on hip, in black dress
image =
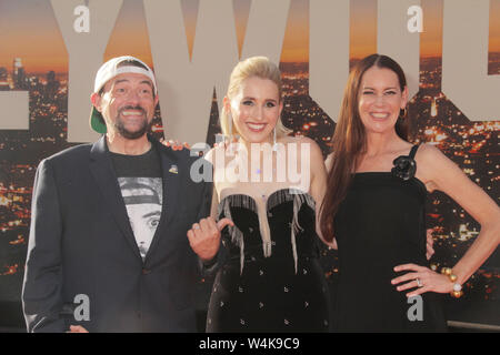
{"label": "woman with long brown hair, hand on hip, in black dress", "polygon": [[[389,57],[372,54],[351,71],[321,215],[323,237],[339,247],[337,331],[446,331],[441,294],[460,296],[500,240],[500,210],[488,194],[433,145],[408,142],[407,104],[404,73]],[[434,190],[481,224],[443,273],[426,260],[424,205]]]}

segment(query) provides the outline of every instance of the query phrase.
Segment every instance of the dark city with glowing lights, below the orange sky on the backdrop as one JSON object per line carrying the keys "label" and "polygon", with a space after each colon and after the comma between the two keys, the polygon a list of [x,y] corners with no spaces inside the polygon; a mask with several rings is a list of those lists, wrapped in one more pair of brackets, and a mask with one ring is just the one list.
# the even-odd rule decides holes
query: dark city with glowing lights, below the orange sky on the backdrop
{"label": "dark city with glowing lights, below the orange sky on the backdrop", "polygon": [[[410,101],[409,110],[410,120],[414,123],[412,142],[438,146],[498,203],[500,121],[470,122],[464,118],[441,92],[440,65],[438,58],[421,59],[420,92]],[[500,55],[498,67],[500,73]],[[292,135],[314,139],[326,158],[331,149],[336,123],[309,97],[308,63],[281,63],[280,68],[284,92],[283,124],[292,131]],[[0,68],[0,90],[18,90],[16,84],[27,85],[30,91],[30,130],[3,131],[0,138],[0,149],[10,154],[10,158],[0,160],[0,242],[18,257],[13,261],[0,260],[0,265],[3,265],[0,283],[2,277],[21,277],[23,273],[24,260],[19,255],[26,257],[37,165],[41,159],[72,145],[67,143],[67,73],[49,71],[31,74],[24,71],[21,79],[13,80],[11,71]],[[209,112],[209,144],[214,142],[214,134],[220,131],[216,95],[214,99]],[[163,136],[159,108],[153,119],[152,134]],[[427,211],[427,223],[433,231],[437,250],[432,262],[438,266],[453,265],[479,234],[480,226],[443,194],[430,194]],[[338,265],[331,257],[336,254],[330,253],[333,252],[322,251],[322,255],[328,255],[326,260],[331,260],[328,263],[332,264],[324,266],[326,275],[334,278]],[[498,268],[484,267],[474,274],[466,288],[480,293],[483,300],[493,300],[496,293],[492,290],[499,278]]]}

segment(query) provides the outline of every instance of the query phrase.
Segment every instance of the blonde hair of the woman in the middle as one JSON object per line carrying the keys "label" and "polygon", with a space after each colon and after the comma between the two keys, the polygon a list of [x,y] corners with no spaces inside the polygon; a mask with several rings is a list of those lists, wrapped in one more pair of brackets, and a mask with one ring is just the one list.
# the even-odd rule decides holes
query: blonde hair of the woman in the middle
{"label": "blonde hair of the woman in the middle", "polygon": [[[241,62],[239,62],[231,72],[229,78],[229,87],[226,97],[232,100],[241,90],[242,82],[248,79],[257,77],[260,79],[269,79],[278,87],[278,95],[280,103],[283,101],[283,88],[281,82],[281,72],[277,64],[271,62],[267,57],[251,57]],[[230,115],[226,110],[226,105],[222,108],[220,113],[220,128],[222,133],[227,136],[232,136],[234,134],[240,134],[234,124],[229,122]],[[278,119],[276,124],[276,135],[277,138],[282,138],[288,135],[291,130],[287,129],[281,122],[281,116]]]}

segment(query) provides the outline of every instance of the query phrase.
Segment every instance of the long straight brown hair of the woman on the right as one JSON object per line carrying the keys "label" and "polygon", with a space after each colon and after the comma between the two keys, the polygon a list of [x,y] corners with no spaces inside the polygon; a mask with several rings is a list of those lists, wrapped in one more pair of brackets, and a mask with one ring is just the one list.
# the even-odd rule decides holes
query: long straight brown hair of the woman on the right
{"label": "long straight brown hair of the woman on the right", "polygon": [[[364,72],[372,68],[392,70],[399,80],[401,92],[407,87],[407,79],[401,67],[391,58],[381,54],[371,54],[359,61],[349,74],[343,91],[339,121],[332,139],[333,159],[327,178],[327,192],[321,205],[320,227],[326,241],[333,240],[333,219],[340,203],[346,199],[347,191],[356,172],[361,154],[367,149],[367,134],[359,115],[359,89]],[[402,112],[396,122],[396,133],[408,140],[408,120]]]}

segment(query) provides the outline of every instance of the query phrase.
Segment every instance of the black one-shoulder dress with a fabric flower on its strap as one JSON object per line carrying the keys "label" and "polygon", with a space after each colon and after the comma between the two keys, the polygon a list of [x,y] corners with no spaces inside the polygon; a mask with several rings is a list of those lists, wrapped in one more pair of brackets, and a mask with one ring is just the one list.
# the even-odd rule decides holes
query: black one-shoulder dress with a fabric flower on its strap
{"label": "black one-shoulder dress with a fabric flower on its strap", "polygon": [[[442,295],[424,293],[410,303],[399,292],[393,267],[426,258],[426,199],[413,160],[394,160],[391,172],[357,173],[334,217],[339,283],[333,306],[337,332],[446,332]],[[417,307],[421,307],[420,310]],[[413,320],[413,321],[411,321]]]}

